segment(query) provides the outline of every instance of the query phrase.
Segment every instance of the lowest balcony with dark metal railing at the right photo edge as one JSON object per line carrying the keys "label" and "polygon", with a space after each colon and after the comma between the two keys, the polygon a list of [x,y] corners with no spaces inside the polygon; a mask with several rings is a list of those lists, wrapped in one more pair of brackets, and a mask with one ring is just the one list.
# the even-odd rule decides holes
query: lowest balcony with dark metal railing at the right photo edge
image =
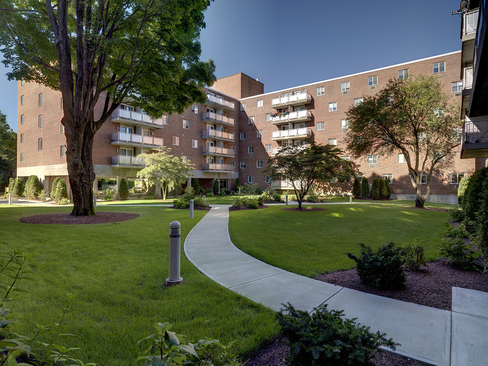
{"label": "lowest balcony with dark metal railing at the right photo edge", "polygon": [[488,120],[467,121],[461,138],[461,159],[488,157]]}

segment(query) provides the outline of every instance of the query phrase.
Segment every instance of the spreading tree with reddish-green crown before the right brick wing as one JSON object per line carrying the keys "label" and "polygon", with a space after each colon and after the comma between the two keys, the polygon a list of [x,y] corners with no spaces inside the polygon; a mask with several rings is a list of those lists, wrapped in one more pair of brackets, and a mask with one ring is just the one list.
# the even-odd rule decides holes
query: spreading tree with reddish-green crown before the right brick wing
{"label": "spreading tree with reddish-green crown before the right brick wing", "polygon": [[[436,169],[448,166],[461,142],[460,109],[449,104],[439,80],[423,76],[390,80],[373,97],[347,112],[347,149],[355,158],[402,153],[416,193],[415,206],[431,191]],[[425,194],[422,194],[425,176]]]}

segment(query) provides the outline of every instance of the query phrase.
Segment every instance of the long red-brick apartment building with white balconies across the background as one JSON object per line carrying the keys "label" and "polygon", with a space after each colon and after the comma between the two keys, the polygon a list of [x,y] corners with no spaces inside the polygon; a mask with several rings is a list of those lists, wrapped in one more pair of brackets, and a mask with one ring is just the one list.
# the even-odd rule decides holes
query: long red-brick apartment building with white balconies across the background
{"label": "long red-brick apartment building with white balconies across the background", "polygon": [[[435,74],[453,103],[462,102],[461,51],[415,60],[353,75],[263,93],[259,80],[238,73],[205,88],[207,102],[183,114],[151,119],[137,106],[121,105],[97,132],[93,148],[98,178],[134,178],[141,169],[136,156],[164,145],[176,156],[195,164],[192,178],[210,188],[233,189],[235,179],[262,189],[290,189],[286,181],[270,181],[262,174],[267,159],[288,144],[307,138],[345,149],[346,111],[366,95],[374,95],[389,79]],[[97,112],[97,110],[96,110]],[[17,175],[36,174],[46,191],[56,176],[68,178],[66,141],[60,119],[59,92],[37,83],[18,84]],[[344,153],[345,159],[348,153]],[[485,166],[485,158],[460,159],[437,171],[430,200],[456,202],[457,182]],[[370,179],[388,177],[395,198],[414,198],[407,164],[401,154],[363,157],[356,164]],[[96,187],[97,179],[94,183]]]}

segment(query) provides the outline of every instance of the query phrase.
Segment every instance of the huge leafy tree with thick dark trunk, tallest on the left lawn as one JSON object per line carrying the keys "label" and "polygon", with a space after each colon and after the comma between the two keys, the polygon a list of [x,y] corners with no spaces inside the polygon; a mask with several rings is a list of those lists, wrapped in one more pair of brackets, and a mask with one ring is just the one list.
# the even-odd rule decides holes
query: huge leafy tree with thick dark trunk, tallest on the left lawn
{"label": "huge leafy tree with thick dark trunk, tallest on the left lawn", "polygon": [[[205,102],[215,80],[198,37],[209,0],[0,0],[9,79],[61,91],[71,215],[95,215],[95,133],[121,102],[149,115]],[[98,102],[102,108],[95,113]]]}

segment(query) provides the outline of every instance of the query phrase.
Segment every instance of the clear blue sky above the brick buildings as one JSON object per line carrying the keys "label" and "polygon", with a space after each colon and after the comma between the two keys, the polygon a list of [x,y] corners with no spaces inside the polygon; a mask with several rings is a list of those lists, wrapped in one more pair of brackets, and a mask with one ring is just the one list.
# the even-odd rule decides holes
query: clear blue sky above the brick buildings
{"label": "clear blue sky above the brick buildings", "polygon": [[[201,59],[271,92],[461,49],[459,1],[215,0]],[[0,67],[0,110],[17,130],[17,84]]]}

